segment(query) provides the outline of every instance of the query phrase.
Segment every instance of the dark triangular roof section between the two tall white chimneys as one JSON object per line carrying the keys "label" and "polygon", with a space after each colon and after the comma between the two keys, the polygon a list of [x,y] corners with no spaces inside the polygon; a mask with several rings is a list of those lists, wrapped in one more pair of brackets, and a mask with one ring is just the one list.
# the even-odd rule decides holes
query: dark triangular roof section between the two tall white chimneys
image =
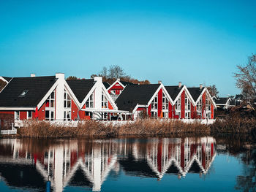
{"label": "dark triangular roof section between the two tall white chimneys", "polygon": [[67,84],[81,103],[94,86],[94,80],[67,80]]}

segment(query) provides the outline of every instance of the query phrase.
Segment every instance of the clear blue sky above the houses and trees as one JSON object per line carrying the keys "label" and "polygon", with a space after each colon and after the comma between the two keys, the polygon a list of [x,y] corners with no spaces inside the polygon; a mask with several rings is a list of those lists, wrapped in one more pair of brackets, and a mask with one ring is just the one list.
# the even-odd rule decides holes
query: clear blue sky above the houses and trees
{"label": "clear blue sky above the houses and trees", "polygon": [[165,85],[217,85],[256,53],[256,1],[0,1],[0,76],[89,78],[103,66]]}

